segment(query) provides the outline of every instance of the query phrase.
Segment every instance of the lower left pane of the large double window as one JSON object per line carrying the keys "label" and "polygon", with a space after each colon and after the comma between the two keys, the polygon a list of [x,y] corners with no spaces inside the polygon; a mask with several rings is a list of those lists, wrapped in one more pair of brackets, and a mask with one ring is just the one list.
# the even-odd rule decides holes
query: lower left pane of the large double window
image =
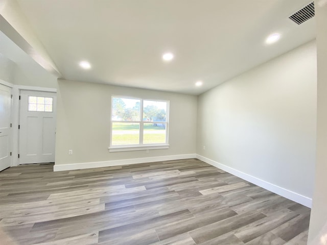
{"label": "lower left pane of the large double window", "polygon": [[112,145],[138,144],[139,123],[113,122],[112,123]]}

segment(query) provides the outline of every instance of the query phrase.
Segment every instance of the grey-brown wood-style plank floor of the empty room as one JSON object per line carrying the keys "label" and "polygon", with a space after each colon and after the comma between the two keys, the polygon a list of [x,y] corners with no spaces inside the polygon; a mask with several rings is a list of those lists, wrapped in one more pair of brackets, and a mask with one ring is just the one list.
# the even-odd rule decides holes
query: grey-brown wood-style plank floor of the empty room
{"label": "grey-brown wood-style plank floor of the empty room", "polygon": [[309,218],[198,159],[0,173],[0,244],[307,244]]}

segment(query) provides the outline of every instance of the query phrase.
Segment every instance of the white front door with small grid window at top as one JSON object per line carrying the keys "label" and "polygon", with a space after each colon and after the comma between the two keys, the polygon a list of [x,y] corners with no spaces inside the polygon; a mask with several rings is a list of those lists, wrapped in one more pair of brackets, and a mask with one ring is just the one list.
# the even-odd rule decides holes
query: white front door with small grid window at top
{"label": "white front door with small grid window at top", "polygon": [[55,161],[56,93],[21,90],[19,164]]}

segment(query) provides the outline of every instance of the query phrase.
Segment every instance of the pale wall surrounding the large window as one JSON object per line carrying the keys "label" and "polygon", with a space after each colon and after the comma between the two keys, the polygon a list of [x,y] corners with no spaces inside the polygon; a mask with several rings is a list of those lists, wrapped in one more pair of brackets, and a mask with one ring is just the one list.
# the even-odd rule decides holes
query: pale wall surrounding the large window
{"label": "pale wall surrounding the large window", "polygon": [[[109,153],[112,94],[169,100],[170,148]],[[194,95],[58,80],[55,169],[61,164],[195,154],[196,120]]]}

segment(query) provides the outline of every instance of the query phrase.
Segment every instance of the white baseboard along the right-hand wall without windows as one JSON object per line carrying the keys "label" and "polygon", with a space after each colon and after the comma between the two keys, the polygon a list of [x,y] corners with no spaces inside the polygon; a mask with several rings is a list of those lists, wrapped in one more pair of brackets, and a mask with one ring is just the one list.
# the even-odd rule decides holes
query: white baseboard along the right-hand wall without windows
{"label": "white baseboard along the right-hand wall without windows", "polygon": [[224,164],[221,164],[221,163],[216,162],[214,160],[211,160],[209,158],[203,157],[201,155],[197,154],[196,158],[203,161],[203,162],[206,162],[206,163],[208,163],[210,165],[213,165],[213,166],[215,166],[217,168],[220,168],[220,169],[222,169],[222,170],[224,170],[224,171],[226,171],[226,172],[228,172],[228,173],[230,173],[232,175],[240,177],[243,180],[246,180],[246,181],[251,182],[251,183],[253,183],[255,185],[258,185],[258,186],[260,186],[262,188],[265,188],[265,189],[267,189],[269,191],[272,191],[272,192],[274,192],[274,193],[276,193],[278,195],[281,195],[284,198],[290,199],[290,200],[292,200],[294,202],[297,202],[297,203],[302,204],[302,205],[304,205],[306,207],[309,207],[309,208],[311,208],[311,206],[312,206],[312,199],[311,198],[305,197],[305,196],[303,196],[301,194],[298,194],[298,193],[293,192],[291,190],[285,189],[283,187],[271,184],[271,183],[269,183],[267,181],[258,179],[256,177],[251,176],[251,175],[245,174],[245,173],[243,173],[243,172],[241,172],[241,171],[239,171],[239,170],[237,170],[235,168],[228,167],[228,166],[226,166]]}

